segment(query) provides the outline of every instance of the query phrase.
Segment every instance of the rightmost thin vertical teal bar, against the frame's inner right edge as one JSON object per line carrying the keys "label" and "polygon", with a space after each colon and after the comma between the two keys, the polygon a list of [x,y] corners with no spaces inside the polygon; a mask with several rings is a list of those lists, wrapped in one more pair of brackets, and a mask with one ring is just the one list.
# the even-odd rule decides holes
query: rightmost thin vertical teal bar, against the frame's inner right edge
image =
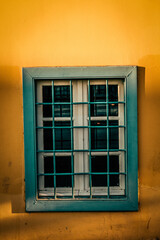
{"label": "rightmost thin vertical teal bar, against the frame's inner right edge", "polygon": [[[125,106],[124,106],[124,148],[127,150],[127,78],[125,78],[125,82],[124,82],[124,102],[125,102]],[[128,169],[127,169],[127,151],[124,152],[124,161],[125,161],[125,195],[127,196],[128,194],[128,188],[127,188],[127,182],[128,182]]]}

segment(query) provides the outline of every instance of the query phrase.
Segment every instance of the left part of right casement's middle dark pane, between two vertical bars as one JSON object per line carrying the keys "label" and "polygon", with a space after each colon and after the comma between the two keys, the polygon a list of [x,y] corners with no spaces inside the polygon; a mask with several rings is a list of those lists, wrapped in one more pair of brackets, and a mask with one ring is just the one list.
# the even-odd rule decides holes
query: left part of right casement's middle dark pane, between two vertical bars
{"label": "left part of right casement's middle dark pane, between two vertical bars", "polygon": [[[106,126],[106,121],[92,121],[92,126]],[[91,128],[91,148],[107,149],[107,129]]]}

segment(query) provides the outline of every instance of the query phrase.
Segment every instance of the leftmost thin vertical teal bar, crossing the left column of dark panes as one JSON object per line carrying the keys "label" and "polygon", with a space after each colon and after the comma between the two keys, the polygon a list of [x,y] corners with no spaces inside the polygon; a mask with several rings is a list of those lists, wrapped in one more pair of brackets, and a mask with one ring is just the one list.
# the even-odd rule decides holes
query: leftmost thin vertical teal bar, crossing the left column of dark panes
{"label": "leftmost thin vertical teal bar, crossing the left column of dark panes", "polygon": [[56,198],[56,156],[55,156],[55,124],[54,124],[54,80],[52,80],[52,134],[53,134],[53,170],[54,170],[54,199]]}

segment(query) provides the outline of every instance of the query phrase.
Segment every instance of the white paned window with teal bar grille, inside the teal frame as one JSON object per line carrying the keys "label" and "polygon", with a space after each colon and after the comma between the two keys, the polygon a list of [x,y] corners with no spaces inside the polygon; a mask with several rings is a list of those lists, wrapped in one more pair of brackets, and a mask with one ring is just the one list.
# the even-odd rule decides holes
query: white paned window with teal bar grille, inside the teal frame
{"label": "white paned window with teal bar grille, inside the teal frame", "polygon": [[[39,198],[112,199],[126,196],[124,81],[100,81],[101,84],[98,80],[37,81]],[[87,101],[83,98],[76,101],[75,94],[82,92],[84,87],[87,89],[84,97]],[[83,120],[81,124],[75,124],[79,109],[80,117],[87,118],[87,124],[83,124]],[[76,143],[79,137],[85,137],[84,134],[79,136],[79,130],[83,129],[88,135],[86,146],[83,140],[83,144]],[[80,164],[83,166],[79,169],[75,167],[76,161],[83,161]],[[87,171],[84,168],[86,164]]]}

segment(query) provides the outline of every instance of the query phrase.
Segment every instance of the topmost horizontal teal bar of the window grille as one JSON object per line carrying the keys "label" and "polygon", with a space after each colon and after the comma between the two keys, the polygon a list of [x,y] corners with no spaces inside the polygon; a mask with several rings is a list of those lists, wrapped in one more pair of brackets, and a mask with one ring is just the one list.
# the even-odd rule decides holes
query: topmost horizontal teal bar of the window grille
{"label": "topmost horizontal teal bar of the window grille", "polygon": [[78,105],[78,104],[119,104],[125,103],[125,101],[114,101],[114,102],[36,102],[36,105]]}

